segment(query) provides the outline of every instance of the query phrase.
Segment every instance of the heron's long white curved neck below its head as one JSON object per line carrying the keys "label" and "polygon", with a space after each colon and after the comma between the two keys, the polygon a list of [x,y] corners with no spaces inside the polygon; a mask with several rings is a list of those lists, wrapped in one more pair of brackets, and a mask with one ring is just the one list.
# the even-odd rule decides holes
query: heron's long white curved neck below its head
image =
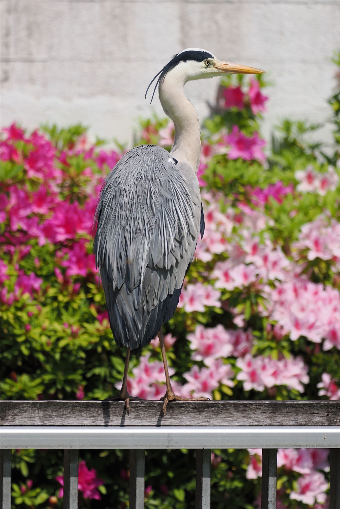
{"label": "heron's long white curved neck below its head", "polygon": [[197,173],[201,133],[196,110],[184,94],[185,83],[186,77],[178,65],[166,74],[159,95],[165,114],[175,125],[175,141],[170,154],[178,161],[188,163]]}

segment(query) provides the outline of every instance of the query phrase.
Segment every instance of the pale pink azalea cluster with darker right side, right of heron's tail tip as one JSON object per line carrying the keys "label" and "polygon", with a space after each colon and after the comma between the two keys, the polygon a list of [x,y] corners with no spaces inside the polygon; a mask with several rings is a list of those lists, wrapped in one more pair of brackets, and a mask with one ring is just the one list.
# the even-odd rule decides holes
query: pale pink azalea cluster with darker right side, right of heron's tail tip
{"label": "pale pink azalea cluster with darker right side, right of heron's tail tip", "polygon": [[226,330],[223,325],[205,328],[197,325],[195,332],[188,334],[190,348],[194,350],[192,359],[203,360],[207,366],[216,359],[229,356],[243,356],[250,352],[253,336],[250,330]]}

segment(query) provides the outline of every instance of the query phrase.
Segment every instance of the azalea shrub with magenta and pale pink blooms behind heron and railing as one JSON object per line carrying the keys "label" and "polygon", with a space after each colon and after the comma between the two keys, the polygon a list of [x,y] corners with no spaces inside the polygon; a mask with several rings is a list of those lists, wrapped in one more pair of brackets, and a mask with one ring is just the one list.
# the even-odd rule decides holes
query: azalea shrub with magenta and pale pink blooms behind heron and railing
{"label": "azalea shrub with magenta and pale pink blooms behind heron and railing", "polygon": [[[340,98],[329,100],[332,146],[315,141],[320,126],[290,120],[266,144],[265,87],[262,77],[225,79],[202,126],[205,233],[164,325],[169,373],[185,396],[339,400]],[[135,144],[170,149],[173,137],[154,117]],[[124,150],[91,143],[80,125],[2,131],[2,399],[103,400],[121,387],[124,352],[92,238],[103,179]],[[128,390],[164,395],[158,338],[130,360]],[[80,455],[80,506],[128,507],[127,451]],[[62,507],[62,451],[12,458],[13,507]],[[212,506],[259,507],[260,476],[260,449],[214,450]],[[146,507],[194,507],[194,451],[146,451],[145,486]],[[278,450],[279,508],[326,509],[328,489],[328,450]]]}

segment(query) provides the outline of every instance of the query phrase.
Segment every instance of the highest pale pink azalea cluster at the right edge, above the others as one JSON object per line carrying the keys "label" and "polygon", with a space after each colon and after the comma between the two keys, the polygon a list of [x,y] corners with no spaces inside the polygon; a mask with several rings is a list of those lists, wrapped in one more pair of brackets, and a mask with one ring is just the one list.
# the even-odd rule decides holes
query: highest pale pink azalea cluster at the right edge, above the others
{"label": "highest pale pink azalea cluster at the right edge, above the others", "polygon": [[317,192],[324,196],[327,191],[333,191],[339,182],[334,166],[328,166],[327,173],[316,172],[311,164],[306,169],[295,173],[300,182],[296,189],[301,192]]}

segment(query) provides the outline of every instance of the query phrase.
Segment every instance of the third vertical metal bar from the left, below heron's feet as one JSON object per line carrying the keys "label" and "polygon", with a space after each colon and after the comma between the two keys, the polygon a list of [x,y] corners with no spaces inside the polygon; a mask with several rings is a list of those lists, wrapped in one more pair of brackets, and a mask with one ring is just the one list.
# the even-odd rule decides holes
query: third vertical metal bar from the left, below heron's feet
{"label": "third vertical metal bar from the left, below heron's feet", "polygon": [[144,509],[144,449],[130,449],[130,509]]}

